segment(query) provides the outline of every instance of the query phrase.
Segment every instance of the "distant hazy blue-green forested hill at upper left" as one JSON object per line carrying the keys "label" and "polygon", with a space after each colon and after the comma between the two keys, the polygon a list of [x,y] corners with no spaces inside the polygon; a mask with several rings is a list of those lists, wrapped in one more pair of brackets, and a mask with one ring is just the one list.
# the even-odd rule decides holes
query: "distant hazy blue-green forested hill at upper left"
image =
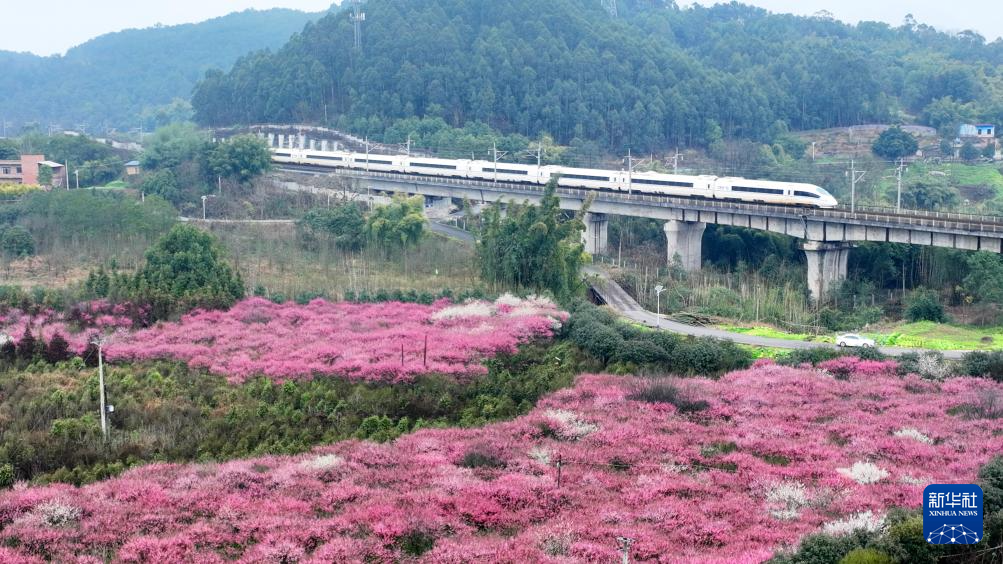
{"label": "distant hazy blue-green forested hill at upper left", "polygon": [[[73,127],[155,125],[157,107],[188,100],[210,68],[229,68],[250,51],[278,48],[322,14],[245,11],[197,24],[102,35],[64,56],[0,51],[0,117]],[[168,109],[168,108],[162,108]],[[173,111],[178,111],[178,104]]]}

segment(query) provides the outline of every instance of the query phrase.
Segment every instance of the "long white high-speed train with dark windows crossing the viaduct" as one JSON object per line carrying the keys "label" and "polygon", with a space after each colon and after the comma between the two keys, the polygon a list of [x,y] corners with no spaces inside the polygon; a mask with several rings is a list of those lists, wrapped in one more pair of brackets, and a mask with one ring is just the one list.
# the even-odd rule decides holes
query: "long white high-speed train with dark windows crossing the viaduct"
{"label": "long white high-speed train with dark windows crossing the viaduct", "polygon": [[520,165],[491,161],[433,159],[396,155],[273,149],[272,160],[289,165],[356,169],[380,173],[402,173],[430,177],[474,179],[506,183],[546,185],[558,177],[558,185],[604,192],[623,192],[703,198],[754,204],[776,204],[808,208],[834,208],[838,203],[821,187],[810,184],[755,181],[714,176],[633,173],[603,169],[575,169],[553,165]]}

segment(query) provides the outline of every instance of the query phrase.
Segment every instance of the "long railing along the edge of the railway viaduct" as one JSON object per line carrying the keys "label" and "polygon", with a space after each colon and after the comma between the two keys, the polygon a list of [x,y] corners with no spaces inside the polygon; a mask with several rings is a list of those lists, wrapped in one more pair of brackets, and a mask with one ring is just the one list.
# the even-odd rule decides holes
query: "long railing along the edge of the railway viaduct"
{"label": "long railing along the edge of the railway viaduct", "polygon": [[[490,182],[471,179],[431,178],[400,173],[363,172],[350,169],[335,169],[331,171],[339,176],[358,179],[385,178],[402,182],[426,185],[452,185],[485,190],[504,189],[508,193],[525,193],[538,196],[546,190],[543,186],[515,184],[507,182]],[[857,207],[851,212],[845,207],[830,210],[820,208],[792,208],[790,206],[774,206],[769,204],[747,204],[741,202],[726,202],[722,200],[694,200],[690,198],[674,198],[671,196],[655,196],[650,194],[623,194],[614,192],[598,192],[575,188],[558,188],[557,194],[570,198],[585,200],[594,195],[597,200],[618,201],[625,204],[644,203],[666,208],[689,208],[697,211],[724,211],[726,213],[748,212],[753,215],[768,215],[807,220],[851,220],[901,225],[903,227],[926,227],[932,229],[960,230],[979,233],[1003,233],[1003,217],[977,216],[971,214],[928,212],[923,210],[903,210],[895,213],[894,209]],[[890,211],[891,210],[891,211]]]}

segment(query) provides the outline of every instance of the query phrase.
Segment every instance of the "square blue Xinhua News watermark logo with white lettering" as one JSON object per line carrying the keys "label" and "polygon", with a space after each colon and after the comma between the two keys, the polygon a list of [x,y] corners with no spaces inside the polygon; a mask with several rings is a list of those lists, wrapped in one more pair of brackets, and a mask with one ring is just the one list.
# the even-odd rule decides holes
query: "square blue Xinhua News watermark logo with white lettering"
{"label": "square blue Xinhua News watermark logo with white lettering", "polygon": [[982,488],[975,484],[931,484],[923,490],[923,536],[930,544],[975,544],[982,540]]}

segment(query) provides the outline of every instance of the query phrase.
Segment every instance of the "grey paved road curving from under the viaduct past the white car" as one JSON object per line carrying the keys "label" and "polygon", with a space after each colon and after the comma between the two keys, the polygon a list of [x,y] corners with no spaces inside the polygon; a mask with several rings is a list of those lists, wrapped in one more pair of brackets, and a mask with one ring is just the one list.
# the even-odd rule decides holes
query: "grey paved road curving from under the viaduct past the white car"
{"label": "grey paved road curving from under the viaduct past the white car", "polygon": [[[588,277],[588,282],[592,288],[598,293],[611,308],[615,309],[624,317],[642,323],[649,327],[661,327],[663,330],[672,331],[674,333],[680,333],[684,335],[693,335],[697,337],[714,337],[717,339],[725,339],[734,341],[740,344],[748,344],[753,346],[768,346],[772,348],[834,348],[834,344],[830,343],[817,343],[808,341],[796,341],[788,339],[776,339],[770,337],[757,337],[754,335],[744,335],[742,333],[732,333],[729,331],[724,331],[721,329],[714,329],[711,327],[701,327],[698,325],[687,325],[685,323],[679,323],[678,321],[672,321],[671,319],[665,319],[664,316],[661,320],[651,311],[648,311],[641,307],[641,304],[637,303],[634,298],[630,297],[619,284],[614,282],[606,271],[595,267],[588,266],[585,268],[585,274]],[[915,348],[899,348],[899,347],[882,347],[879,348],[883,353],[889,356],[900,356],[908,352],[924,352],[922,349]],[[943,350],[940,351],[944,354],[945,358],[961,358],[967,350]]]}

